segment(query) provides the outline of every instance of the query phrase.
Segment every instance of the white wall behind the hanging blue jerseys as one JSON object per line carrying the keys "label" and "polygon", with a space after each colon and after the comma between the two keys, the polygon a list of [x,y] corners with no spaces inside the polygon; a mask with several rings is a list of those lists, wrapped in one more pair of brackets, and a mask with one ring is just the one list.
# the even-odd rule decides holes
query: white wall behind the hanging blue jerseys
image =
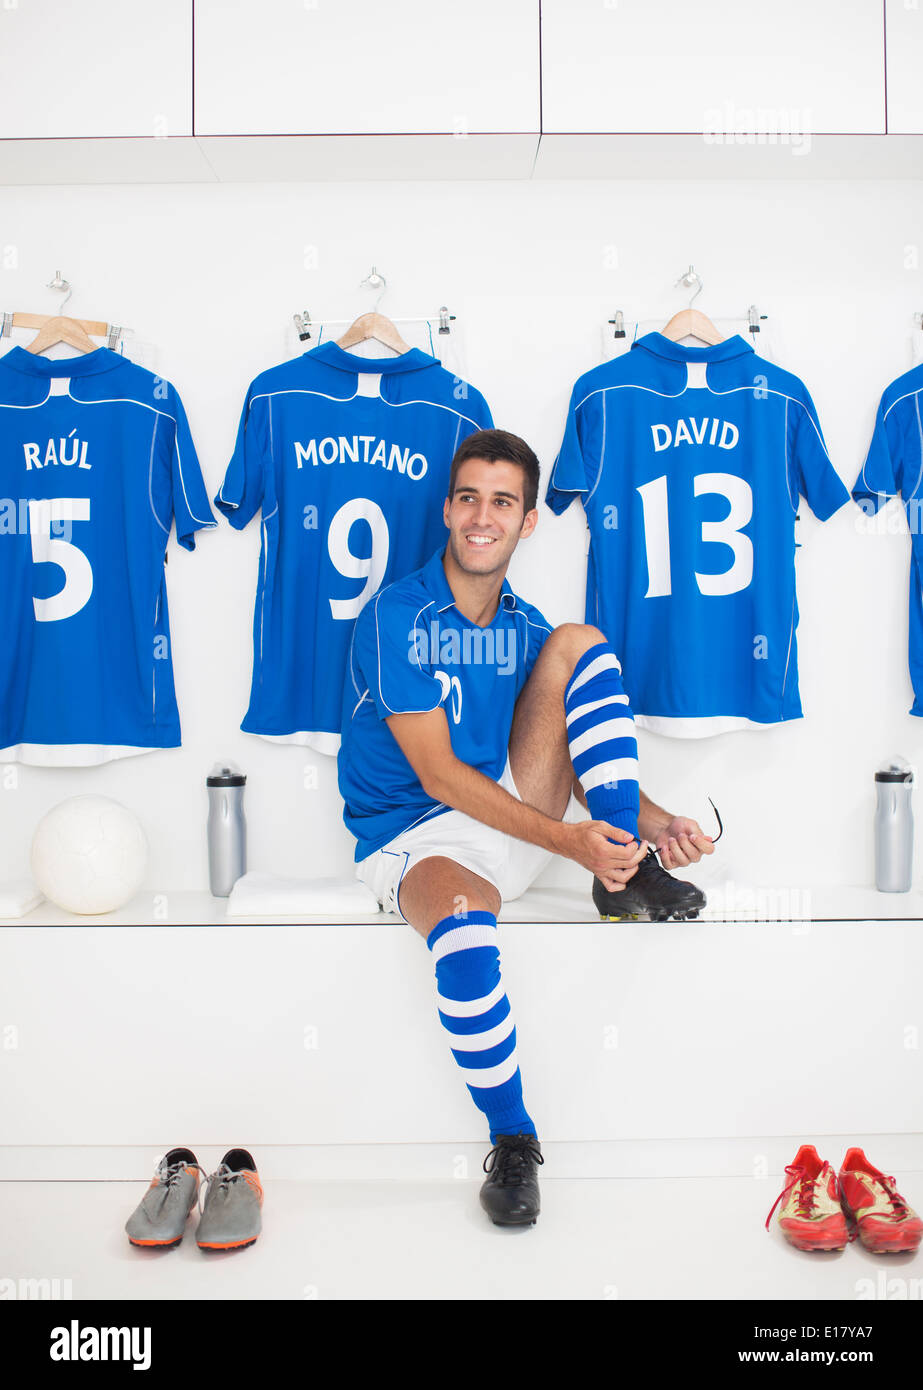
{"label": "white wall behind the hanging blue jerseys", "polygon": [[[922,214],[912,182],[7,188],[0,242],[15,264],[0,275],[0,307],[46,307],[42,286],[60,267],[78,286],[68,313],[131,324],[156,349],[147,364],[183,398],[214,493],[247,382],[297,350],[293,310],[342,318],[370,307],[356,286],[373,261],[392,286],[384,311],[446,302],[457,313],[468,379],[545,468],[570,388],[601,357],[602,320],[621,307],[664,321],[692,261],[706,284],[698,306],[713,318],[751,302],[771,316],[774,356],[806,381],[851,485],[879,395],[910,366]],[[702,881],[869,881],[872,773],[892,751],[919,755],[923,726],[906,714],[906,534],[858,534],[852,509],[826,525],[803,514],[806,717],[702,742],[641,734],[645,790],[703,821],[710,794],[727,821],[720,873],[709,866]],[[93,770],[0,771],[4,874],[26,872],[44,810],[97,791],[142,816],[152,891],[206,887],[204,777],[227,756],[249,777],[250,867],[350,870],[334,762],[238,728],[257,553],[256,523],[243,535],[222,523],[192,556],[171,543],[183,748]],[[552,620],[582,619],[582,513],[556,520],[542,507],[510,578]],[[304,785],[311,764],[317,790]],[[585,885],[563,863],[546,880]]]}

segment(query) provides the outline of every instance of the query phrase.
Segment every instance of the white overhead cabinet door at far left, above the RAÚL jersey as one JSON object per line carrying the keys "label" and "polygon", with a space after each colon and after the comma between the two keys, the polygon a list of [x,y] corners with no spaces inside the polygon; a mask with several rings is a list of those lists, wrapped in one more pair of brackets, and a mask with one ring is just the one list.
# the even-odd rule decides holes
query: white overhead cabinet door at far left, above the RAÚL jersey
{"label": "white overhead cabinet door at far left, above the RA\u00daL jersey", "polygon": [[6,140],[192,135],[192,0],[0,0]]}

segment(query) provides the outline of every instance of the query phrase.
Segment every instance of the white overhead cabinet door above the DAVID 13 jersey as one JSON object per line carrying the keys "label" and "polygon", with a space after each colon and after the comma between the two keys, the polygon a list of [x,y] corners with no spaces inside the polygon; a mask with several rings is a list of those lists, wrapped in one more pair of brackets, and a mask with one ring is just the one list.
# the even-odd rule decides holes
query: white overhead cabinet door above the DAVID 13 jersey
{"label": "white overhead cabinet door above the DAVID 13 jersey", "polygon": [[883,133],[881,0],[542,0],[542,100],[550,133]]}

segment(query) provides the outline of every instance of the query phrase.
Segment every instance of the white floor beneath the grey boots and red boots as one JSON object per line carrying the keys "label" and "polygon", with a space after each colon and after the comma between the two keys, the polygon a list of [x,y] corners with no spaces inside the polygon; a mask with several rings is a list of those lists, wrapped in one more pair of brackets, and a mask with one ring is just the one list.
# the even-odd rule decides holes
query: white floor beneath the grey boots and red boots
{"label": "white floor beneath the grey boots and red boots", "polygon": [[[906,1175],[909,1194],[923,1175]],[[138,1183],[0,1183],[4,1297],[57,1280],[72,1298],[923,1298],[923,1257],[792,1250],[763,1222],[773,1186],[735,1179],[542,1177],[534,1227],[499,1229],[478,1179],[267,1184],[263,1234],[204,1255],[128,1244]],[[70,1282],[70,1283],[67,1283]],[[35,1294],[33,1294],[35,1297]]]}

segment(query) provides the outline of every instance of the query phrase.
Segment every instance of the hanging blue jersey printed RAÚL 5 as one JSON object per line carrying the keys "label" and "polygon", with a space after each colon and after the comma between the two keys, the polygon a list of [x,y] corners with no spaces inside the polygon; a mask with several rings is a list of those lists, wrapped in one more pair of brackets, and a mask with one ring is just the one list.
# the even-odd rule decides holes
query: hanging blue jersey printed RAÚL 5
{"label": "hanging blue jersey printed RA\u00daL 5", "polygon": [[164,557],[217,525],[179,396],[99,348],[0,357],[0,760],[179,744]]}

